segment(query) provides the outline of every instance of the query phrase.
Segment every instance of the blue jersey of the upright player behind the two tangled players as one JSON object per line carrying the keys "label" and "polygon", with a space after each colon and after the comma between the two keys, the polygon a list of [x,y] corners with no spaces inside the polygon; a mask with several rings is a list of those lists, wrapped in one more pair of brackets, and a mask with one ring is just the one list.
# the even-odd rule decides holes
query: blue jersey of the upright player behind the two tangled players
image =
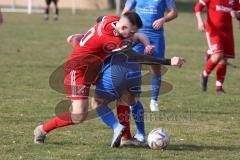
{"label": "blue jersey of the upright player behind the two tangled players", "polygon": [[156,31],[152,28],[152,24],[155,20],[164,17],[166,9],[176,8],[176,4],[174,0],[127,0],[125,7],[135,9],[139,14],[143,21],[142,31],[162,33],[163,27]]}

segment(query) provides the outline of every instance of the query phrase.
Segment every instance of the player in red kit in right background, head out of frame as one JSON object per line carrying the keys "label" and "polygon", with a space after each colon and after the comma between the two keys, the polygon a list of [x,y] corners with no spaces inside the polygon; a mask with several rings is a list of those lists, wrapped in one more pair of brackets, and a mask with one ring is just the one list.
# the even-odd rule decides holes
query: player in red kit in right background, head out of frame
{"label": "player in red kit in right background, head out of frame", "polygon": [[[202,18],[203,8],[207,8],[207,20]],[[201,87],[207,91],[208,75],[216,68],[216,92],[224,94],[223,83],[227,72],[227,59],[235,57],[231,12],[235,8],[234,0],[199,0],[195,5],[195,14],[200,32],[206,32],[211,56],[201,74]]]}

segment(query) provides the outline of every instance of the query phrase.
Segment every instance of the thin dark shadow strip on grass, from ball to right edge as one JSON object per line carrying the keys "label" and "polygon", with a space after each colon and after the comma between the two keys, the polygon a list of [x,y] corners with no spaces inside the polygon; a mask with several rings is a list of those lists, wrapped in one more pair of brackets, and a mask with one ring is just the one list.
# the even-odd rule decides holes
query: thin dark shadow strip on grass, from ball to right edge
{"label": "thin dark shadow strip on grass, from ball to right edge", "polygon": [[196,144],[176,144],[169,145],[167,150],[172,151],[203,151],[203,150],[214,150],[214,151],[239,151],[240,146],[210,146],[210,145],[196,145]]}

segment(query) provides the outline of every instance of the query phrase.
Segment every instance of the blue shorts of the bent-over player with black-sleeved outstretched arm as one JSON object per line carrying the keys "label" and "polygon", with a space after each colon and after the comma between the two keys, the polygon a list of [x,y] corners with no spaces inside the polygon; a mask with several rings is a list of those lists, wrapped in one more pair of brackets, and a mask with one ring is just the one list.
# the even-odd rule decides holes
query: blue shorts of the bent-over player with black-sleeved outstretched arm
{"label": "blue shorts of the bent-over player with black-sleeved outstretched arm", "polygon": [[113,55],[105,61],[102,76],[96,84],[97,98],[114,101],[120,99],[123,91],[140,94],[141,70],[136,62],[129,61],[123,54]]}

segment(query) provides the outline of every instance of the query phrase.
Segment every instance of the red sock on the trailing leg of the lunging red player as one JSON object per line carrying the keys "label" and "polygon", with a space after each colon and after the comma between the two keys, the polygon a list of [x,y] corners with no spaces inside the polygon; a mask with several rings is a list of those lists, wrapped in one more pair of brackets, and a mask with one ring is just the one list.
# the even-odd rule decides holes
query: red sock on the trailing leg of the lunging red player
{"label": "red sock on the trailing leg of the lunging red player", "polygon": [[43,125],[43,130],[48,133],[55,128],[69,126],[73,124],[74,123],[72,122],[71,113],[65,113],[45,123]]}

